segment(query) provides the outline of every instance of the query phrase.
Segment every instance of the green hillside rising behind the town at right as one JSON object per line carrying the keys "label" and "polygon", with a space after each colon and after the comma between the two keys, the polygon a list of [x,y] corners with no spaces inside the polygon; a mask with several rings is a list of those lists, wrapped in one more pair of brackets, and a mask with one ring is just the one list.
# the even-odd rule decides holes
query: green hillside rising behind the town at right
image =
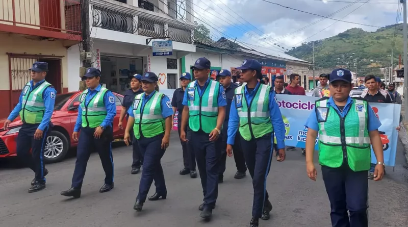
{"label": "green hillside rising behind the town at right", "polygon": [[[394,32],[396,37],[393,47]],[[312,45],[312,42],[306,44]],[[308,45],[303,43],[293,47],[287,54],[312,62],[313,52]],[[394,50],[393,63],[396,66],[399,55],[403,53],[402,24],[386,26],[375,32],[366,32],[357,28],[349,29],[336,36],[315,41],[316,67],[345,66],[355,71],[356,62],[360,77],[367,74],[382,76],[379,68],[391,65],[391,48]]]}

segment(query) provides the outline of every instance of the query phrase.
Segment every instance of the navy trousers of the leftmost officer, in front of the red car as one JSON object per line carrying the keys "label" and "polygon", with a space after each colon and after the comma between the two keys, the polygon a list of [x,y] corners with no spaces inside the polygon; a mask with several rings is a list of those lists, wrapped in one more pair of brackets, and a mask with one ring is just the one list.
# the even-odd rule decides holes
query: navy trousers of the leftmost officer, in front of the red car
{"label": "navy trousers of the leftmost officer, in front of the red car", "polygon": [[[42,139],[37,140],[34,139],[34,133],[38,125],[40,124],[23,123],[21,125],[17,136],[17,157],[35,172],[36,181],[45,183],[43,156],[48,127],[43,131]],[[31,155],[30,149],[32,149]]]}

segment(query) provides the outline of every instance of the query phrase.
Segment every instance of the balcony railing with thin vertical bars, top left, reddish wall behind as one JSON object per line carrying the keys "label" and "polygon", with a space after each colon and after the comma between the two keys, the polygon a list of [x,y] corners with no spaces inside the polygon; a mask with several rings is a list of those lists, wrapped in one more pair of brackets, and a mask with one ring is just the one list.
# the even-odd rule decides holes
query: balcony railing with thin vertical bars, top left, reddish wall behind
{"label": "balcony railing with thin vertical bars, top left, reddish wall behind", "polygon": [[0,25],[81,34],[80,0],[0,0]]}

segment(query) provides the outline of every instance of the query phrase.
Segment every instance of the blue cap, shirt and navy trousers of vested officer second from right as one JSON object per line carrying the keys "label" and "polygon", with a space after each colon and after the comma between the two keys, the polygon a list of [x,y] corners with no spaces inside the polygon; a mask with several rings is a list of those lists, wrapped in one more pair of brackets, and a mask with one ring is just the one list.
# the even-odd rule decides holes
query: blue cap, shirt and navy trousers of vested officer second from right
{"label": "blue cap, shirt and navy trousers of vested officer second from right", "polygon": [[[261,71],[262,65],[256,60],[245,60],[241,67],[237,69],[253,69]],[[257,83],[254,89],[248,89],[246,85],[244,89],[244,96],[246,103],[251,106],[252,99],[257,94],[260,88],[260,83]],[[231,105],[230,121],[228,122],[228,139],[227,144],[234,145],[235,135],[239,127],[239,115],[236,106],[236,98],[234,98]],[[241,102],[242,104],[242,102]],[[242,108],[242,107],[241,107]],[[275,92],[273,89],[269,92],[268,103],[269,117],[273,126],[273,131],[270,134],[266,134],[260,138],[253,138],[250,141],[246,141],[241,136],[241,145],[244,152],[246,166],[252,177],[253,184],[253,205],[252,205],[252,218],[256,219],[251,226],[258,226],[257,221],[259,218],[269,219],[269,212],[272,209],[272,205],[269,202],[269,194],[266,191],[266,177],[270,170],[270,164],[272,160],[272,144],[274,143],[274,134],[276,135],[277,148],[285,148],[285,125],[282,119],[281,111],[275,100]],[[252,221],[251,221],[252,224]],[[256,224],[256,225],[255,225]]]}

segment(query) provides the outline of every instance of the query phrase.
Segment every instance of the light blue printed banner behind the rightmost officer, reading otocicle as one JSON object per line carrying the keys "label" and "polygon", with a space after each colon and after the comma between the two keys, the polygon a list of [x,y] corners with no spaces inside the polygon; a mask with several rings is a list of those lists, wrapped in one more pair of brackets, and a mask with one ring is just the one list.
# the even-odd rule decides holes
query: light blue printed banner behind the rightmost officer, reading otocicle
{"label": "light blue printed banner behind the rightmost officer, reading otocicle", "polygon": [[[276,99],[285,123],[285,145],[304,148],[308,134],[308,129],[304,127],[304,124],[315,106],[315,101],[319,98],[280,94],[276,95]],[[394,166],[398,139],[398,132],[395,128],[399,124],[401,105],[370,103],[370,106],[381,121],[378,131],[384,148],[384,161],[386,165]],[[315,150],[319,149],[318,139],[319,137],[316,139]],[[371,162],[377,162],[372,149]]]}

